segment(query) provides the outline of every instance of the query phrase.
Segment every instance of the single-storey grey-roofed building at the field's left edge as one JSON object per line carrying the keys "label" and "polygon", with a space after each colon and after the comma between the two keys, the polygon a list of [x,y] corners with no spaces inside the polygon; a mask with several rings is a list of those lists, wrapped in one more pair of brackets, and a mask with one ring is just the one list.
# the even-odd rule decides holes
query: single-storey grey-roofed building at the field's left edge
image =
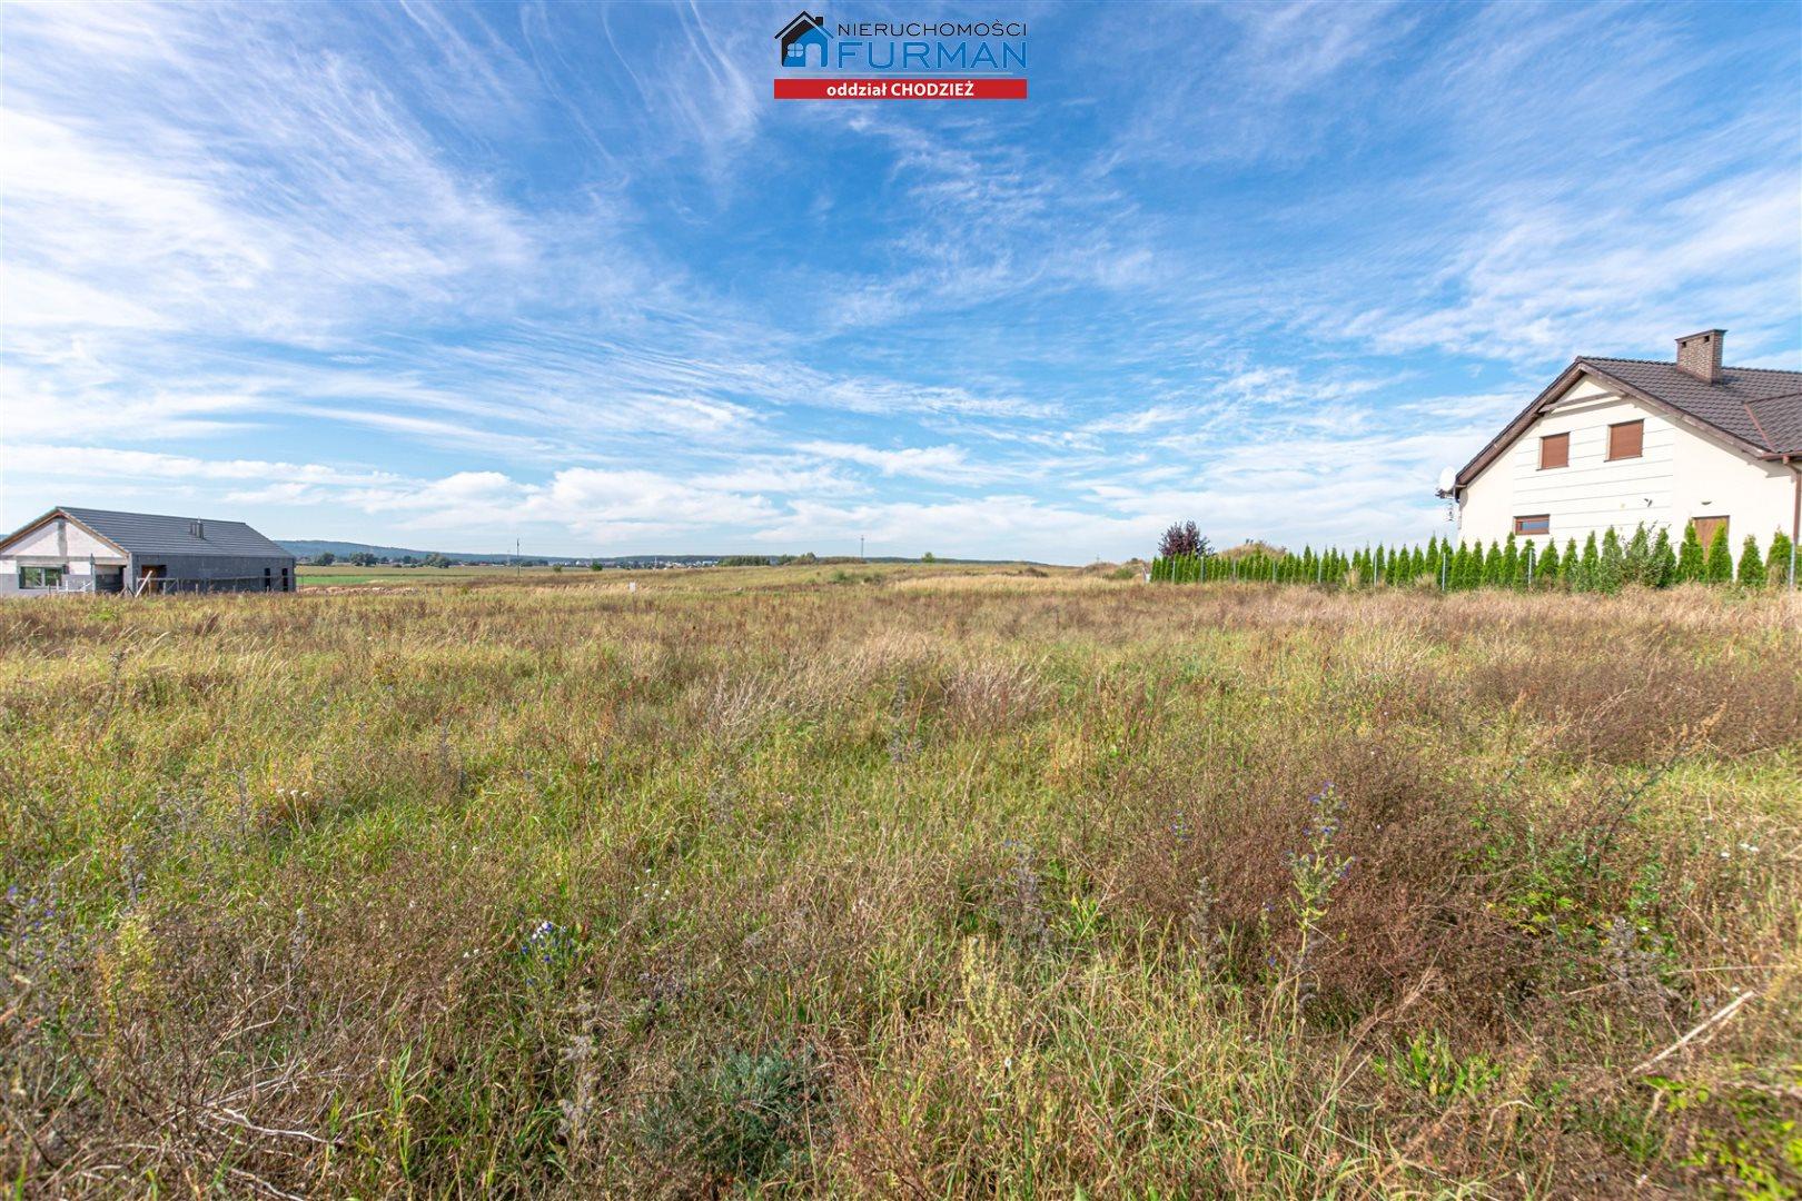
{"label": "single-storey grey-roofed building at the field's left edge", "polygon": [[243,522],[56,508],[0,540],[0,596],[296,587],[294,555]]}

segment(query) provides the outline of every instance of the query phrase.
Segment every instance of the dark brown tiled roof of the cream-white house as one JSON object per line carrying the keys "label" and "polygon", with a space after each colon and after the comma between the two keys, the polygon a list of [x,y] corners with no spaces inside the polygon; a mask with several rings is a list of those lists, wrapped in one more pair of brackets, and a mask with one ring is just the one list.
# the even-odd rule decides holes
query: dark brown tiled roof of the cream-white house
{"label": "dark brown tiled roof of the cream-white house", "polygon": [[1580,357],[1465,463],[1458,472],[1458,486],[1469,484],[1497,454],[1512,447],[1514,439],[1584,375],[1663,409],[1681,421],[1712,429],[1748,456],[1775,459],[1802,454],[1802,371],[1721,367],[1719,378],[1708,384],[1679,371],[1674,362]]}

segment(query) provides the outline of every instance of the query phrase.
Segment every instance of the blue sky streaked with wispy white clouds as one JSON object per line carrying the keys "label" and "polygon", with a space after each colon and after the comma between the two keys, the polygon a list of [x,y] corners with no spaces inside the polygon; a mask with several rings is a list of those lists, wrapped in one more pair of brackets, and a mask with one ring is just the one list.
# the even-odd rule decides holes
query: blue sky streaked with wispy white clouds
{"label": "blue sky streaked with wispy white clouds", "polygon": [[[0,520],[555,555],[1425,538],[1577,353],[1802,366],[1802,7],[7,5]],[[980,9],[980,11],[975,11]]]}

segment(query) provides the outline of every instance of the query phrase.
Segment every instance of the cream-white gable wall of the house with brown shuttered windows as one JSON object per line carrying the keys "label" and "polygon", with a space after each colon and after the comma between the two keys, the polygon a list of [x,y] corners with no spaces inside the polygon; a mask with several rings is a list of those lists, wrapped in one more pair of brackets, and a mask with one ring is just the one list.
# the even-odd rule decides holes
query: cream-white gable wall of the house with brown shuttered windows
{"label": "cream-white gable wall of the house with brown shuttered windows", "polygon": [[[1607,459],[1607,427],[1645,421],[1643,454]],[[1539,470],[1539,439],[1570,434],[1570,466]],[[1579,546],[1607,528],[1633,533],[1665,526],[1672,540],[1696,517],[1728,517],[1728,538],[1739,553],[1755,535],[1770,549],[1771,533],[1789,531],[1795,472],[1762,463],[1714,434],[1663,416],[1634,400],[1609,394],[1588,376],[1561,396],[1512,447],[1465,488],[1460,535],[1465,542],[1505,540],[1515,517],[1548,513],[1559,546]]]}

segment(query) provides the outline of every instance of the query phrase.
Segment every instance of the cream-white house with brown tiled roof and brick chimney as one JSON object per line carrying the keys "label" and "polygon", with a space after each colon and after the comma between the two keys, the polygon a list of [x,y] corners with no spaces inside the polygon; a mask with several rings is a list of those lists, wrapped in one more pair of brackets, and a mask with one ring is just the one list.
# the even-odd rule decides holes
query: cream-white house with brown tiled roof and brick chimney
{"label": "cream-white house with brown tiled roof and brick chimney", "polygon": [[1571,362],[1440,493],[1458,535],[1562,546],[1696,522],[1703,546],[1726,528],[1735,555],[1746,535],[1802,535],[1802,371],[1723,367],[1725,337],[1678,339],[1676,362]]}

